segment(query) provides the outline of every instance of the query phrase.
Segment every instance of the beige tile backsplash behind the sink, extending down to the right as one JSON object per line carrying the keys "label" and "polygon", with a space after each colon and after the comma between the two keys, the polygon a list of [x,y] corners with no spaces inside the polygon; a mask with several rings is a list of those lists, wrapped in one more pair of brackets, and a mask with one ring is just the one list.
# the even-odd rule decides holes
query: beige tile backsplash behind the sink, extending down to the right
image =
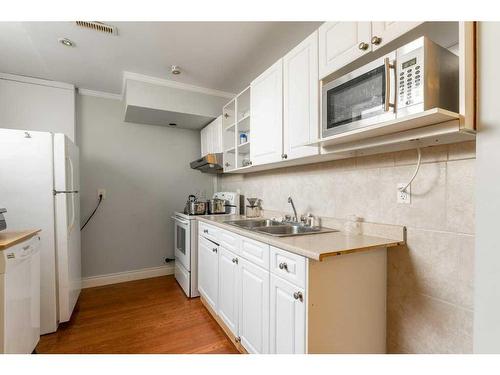
{"label": "beige tile backsplash behind the sink, extending down to the right", "polygon": [[388,251],[389,353],[472,352],[475,142],[422,150],[411,204],[397,184],[413,174],[416,151],[402,151],[224,175],[219,190],[262,199],[264,209],[407,227],[407,245]]}

